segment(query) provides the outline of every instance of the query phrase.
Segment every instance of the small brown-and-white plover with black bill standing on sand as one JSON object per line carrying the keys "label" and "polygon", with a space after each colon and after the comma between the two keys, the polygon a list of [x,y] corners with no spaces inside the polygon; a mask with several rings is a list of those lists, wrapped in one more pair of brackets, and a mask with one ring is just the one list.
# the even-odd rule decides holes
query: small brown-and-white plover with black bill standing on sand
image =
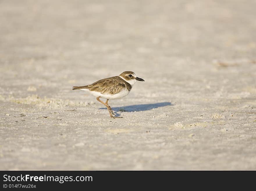
{"label": "small brown-and-white plover with black bill standing on sand", "polygon": [[[73,90],[84,90],[86,92],[90,92],[90,94],[96,96],[97,101],[107,107],[110,117],[117,118],[108,104],[109,99],[120,99],[127,96],[136,81],[145,80],[138,78],[134,72],[125,71],[119,76],[104,78],[90,85],[74,86]],[[106,99],[107,101],[104,103],[99,98]]]}

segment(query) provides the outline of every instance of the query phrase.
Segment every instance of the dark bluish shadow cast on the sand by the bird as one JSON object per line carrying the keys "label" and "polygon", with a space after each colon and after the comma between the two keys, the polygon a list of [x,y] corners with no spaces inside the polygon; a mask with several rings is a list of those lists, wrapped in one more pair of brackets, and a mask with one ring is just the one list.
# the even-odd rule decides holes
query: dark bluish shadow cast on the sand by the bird
{"label": "dark bluish shadow cast on the sand by the bird", "polygon": [[[131,105],[131,106],[123,106],[123,107],[114,107],[112,110],[114,111],[116,116],[120,116],[117,112],[134,112],[134,111],[146,111],[164,106],[173,106],[170,102],[161,102],[161,103],[151,103],[151,104],[139,104],[139,105]],[[99,109],[107,109],[107,108],[99,108]]]}

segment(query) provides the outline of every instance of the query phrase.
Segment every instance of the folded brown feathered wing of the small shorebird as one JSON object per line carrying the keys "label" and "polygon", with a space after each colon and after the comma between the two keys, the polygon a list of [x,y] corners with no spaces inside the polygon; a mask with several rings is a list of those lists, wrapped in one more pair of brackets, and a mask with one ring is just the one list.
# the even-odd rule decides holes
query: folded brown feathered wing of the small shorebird
{"label": "folded brown feathered wing of the small shorebird", "polygon": [[125,88],[125,84],[122,83],[122,79],[119,76],[114,76],[94,82],[85,86],[85,88],[102,94],[117,94]]}

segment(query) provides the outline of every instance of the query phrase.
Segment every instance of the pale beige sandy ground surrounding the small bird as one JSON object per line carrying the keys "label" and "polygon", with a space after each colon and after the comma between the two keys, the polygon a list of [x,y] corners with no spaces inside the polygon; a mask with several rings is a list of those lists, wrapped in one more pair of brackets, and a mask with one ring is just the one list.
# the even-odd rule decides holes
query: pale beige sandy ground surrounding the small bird
{"label": "pale beige sandy ground surrounding the small bird", "polygon": [[[0,169],[256,170],[255,7],[0,1]],[[121,119],[71,90],[126,70]]]}

